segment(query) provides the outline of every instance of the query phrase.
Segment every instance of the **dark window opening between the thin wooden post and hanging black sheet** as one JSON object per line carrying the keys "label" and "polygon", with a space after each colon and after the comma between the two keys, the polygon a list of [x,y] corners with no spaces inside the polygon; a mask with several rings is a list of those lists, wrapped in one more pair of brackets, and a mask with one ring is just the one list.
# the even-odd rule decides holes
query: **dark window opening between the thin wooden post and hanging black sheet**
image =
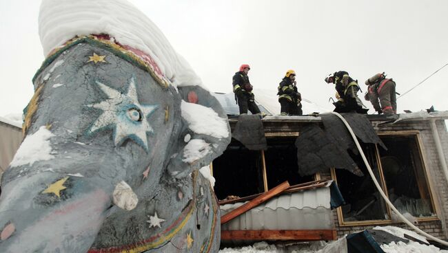
{"label": "dark window opening between the thin wooden post and hanging black sheet", "polygon": [[297,148],[295,137],[275,137],[267,139],[267,151],[264,152],[267,188],[288,181],[289,185],[306,183],[314,180],[314,175],[301,177],[298,175]]}

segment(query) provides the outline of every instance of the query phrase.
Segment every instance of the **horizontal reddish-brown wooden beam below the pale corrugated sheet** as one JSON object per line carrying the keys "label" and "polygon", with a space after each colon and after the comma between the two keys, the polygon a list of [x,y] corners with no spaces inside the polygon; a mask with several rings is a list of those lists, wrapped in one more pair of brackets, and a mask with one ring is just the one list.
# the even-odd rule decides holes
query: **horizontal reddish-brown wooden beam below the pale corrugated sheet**
{"label": "horizontal reddish-brown wooden beam below the pale corrugated sheet", "polygon": [[221,230],[221,240],[336,240],[336,230]]}

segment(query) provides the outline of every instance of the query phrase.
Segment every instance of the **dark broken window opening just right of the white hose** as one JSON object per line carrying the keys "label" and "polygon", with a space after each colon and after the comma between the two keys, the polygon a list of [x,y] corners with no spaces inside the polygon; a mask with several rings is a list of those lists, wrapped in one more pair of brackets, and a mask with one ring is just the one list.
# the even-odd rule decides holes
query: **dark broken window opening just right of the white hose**
{"label": "dark broken window opening just right of the white hose", "polygon": [[380,138],[388,148],[380,150],[380,161],[390,201],[402,214],[436,216],[417,135]]}

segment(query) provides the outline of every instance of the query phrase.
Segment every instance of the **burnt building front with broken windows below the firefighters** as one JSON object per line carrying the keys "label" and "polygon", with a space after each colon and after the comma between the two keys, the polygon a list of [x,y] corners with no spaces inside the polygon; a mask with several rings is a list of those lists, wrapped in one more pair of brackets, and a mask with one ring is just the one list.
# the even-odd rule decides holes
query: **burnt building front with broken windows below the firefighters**
{"label": "burnt building front with broken windows below the firefighters", "polygon": [[[367,115],[367,118],[387,147],[386,150],[378,144],[361,143],[381,188],[414,225],[447,239],[448,133],[445,120],[448,112],[422,111],[394,117]],[[229,121],[234,131],[238,118],[230,117]],[[298,173],[301,164],[298,164],[296,145],[300,143],[296,143],[296,139],[309,124],[322,126],[320,117],[267,116],[261,122],[267,143],[265,150],[250,150],[232,139],[225,153],[212,163],[218,199],[267,192],[285,180],[296,185],[332,179],[345,199],[345,204],[332,210],[332,228],[338,238],[376,225],[411,230],[380,197],[360,154],[349,152],[363,172],[362,176],[340,168],[327,168],[306,176]]]}

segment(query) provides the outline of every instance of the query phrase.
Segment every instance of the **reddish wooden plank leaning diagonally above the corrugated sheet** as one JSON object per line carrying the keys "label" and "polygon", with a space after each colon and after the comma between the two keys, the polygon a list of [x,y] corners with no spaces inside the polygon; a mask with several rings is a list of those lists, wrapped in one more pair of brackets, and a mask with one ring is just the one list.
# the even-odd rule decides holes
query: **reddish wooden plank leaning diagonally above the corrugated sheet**
{"label": "reddish wooden plank leaning diagonally above the corrugated sheet", "polygon": [[272,197],[278,195],[280,192],[283,192],[283,190],[286,190],[288,187],[289,187],[288,181],[284,181],[283,183],[279,184],[278,186],[272,188],[271,190],[264,192],[263,194],[256,197],[255,199],[252,199],[251,201],[243,204],[243,206],[239,206],[238,208],[235,208],[234,210],[227,212],[227,214],[224,214],[221,217],[221,224],[224,224],[227,221],[234,219],[238,215],[243,214],[244,212],[247,212],[248,210],[251,210],[252,208],[258,206],[259,204],[261,204],[265,201],[268,201]]}

